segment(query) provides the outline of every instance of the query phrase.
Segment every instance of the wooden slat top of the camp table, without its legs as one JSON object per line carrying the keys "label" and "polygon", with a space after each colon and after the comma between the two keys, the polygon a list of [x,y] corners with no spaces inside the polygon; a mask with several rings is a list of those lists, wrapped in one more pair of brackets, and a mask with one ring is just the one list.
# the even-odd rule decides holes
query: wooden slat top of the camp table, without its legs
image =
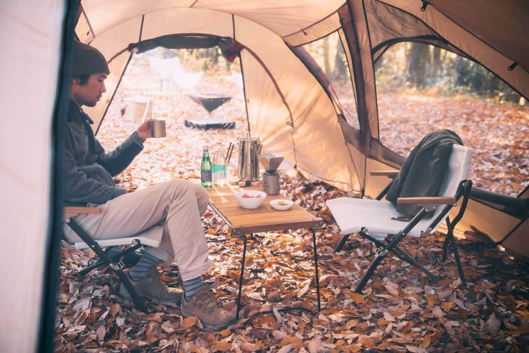
{"label": "wooden slat top of the camp table, without its legs", "polygon": [[262,190],[260,186],[240,188],[231,184],[224,187],[213,185],[206,190],[209,194],[209,205],[224,219],[232,234],[323,226],[321,218],[311,215],[296,204],[285,211],[273,209],[270,201],[287,199],[281,194],[268,195],[262,205],[256,209],[250,210],[239,206],[233,194],[235,191]]}

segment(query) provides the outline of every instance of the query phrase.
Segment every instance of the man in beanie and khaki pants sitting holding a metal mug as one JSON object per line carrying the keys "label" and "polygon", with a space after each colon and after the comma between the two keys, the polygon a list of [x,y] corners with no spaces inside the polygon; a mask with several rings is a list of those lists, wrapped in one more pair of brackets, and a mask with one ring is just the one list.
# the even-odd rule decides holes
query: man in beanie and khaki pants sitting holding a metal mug
{"label": "man in beanie and khaki pants sitting holding a metal mug", "polygon": [[[159,301],[181,301],[181,313],[198,317],[204,326],[219,329],[231,324],[235,315],[223,310],[202,276],[212,266],[200,217],[208,202],[199,184],[177,179],[126,193],[112,177],[122,172],[143,149],[151,136],[150,122],[138,129],[114,151],[105,153],[94,136],[90,117],[81,107],[94,107],[105,92],[110,73],[103,54],[90,45],[74,41],[70,102],[66,124],[66,202],[97,205],[99,214],[82,214],[75,221],[93,239],[130,237],[154,231],[163,223],[158,248],[145,247],[143,256],[129,272],[140,296]],[[68,239],[80,238],[65,227]],[[156,267],[176,262],[184,290],[169,288]],[[120,293],[129,295],[123,284]]]}

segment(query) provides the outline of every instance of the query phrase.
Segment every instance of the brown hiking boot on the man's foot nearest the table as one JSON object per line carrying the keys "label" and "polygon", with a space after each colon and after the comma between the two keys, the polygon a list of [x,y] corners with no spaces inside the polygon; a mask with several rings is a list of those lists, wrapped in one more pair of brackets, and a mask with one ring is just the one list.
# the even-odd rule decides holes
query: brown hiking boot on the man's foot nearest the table
{"label": "brown hiking boot on the man's foot nearest the table", "polygon": [[185,318],[198,317],[204,327],[213,330],[222,330],[235,323],[235,314],[222,309],[221,304],[208,287],[198,291],[189,301],[186,300],[185,295],[182,295],[180,312]]}

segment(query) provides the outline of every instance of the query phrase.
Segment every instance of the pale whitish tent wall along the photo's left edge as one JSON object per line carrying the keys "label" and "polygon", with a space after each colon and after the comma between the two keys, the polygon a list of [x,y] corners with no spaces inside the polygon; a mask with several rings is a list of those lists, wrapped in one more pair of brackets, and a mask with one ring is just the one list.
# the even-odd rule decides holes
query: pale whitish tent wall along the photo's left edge
{"label": "pale whitish tent wall along the photo's left edge", "polygon": [[10,1],[0,8],[0,351],[5,353],[38,348],[64,16],[63,1]]}

